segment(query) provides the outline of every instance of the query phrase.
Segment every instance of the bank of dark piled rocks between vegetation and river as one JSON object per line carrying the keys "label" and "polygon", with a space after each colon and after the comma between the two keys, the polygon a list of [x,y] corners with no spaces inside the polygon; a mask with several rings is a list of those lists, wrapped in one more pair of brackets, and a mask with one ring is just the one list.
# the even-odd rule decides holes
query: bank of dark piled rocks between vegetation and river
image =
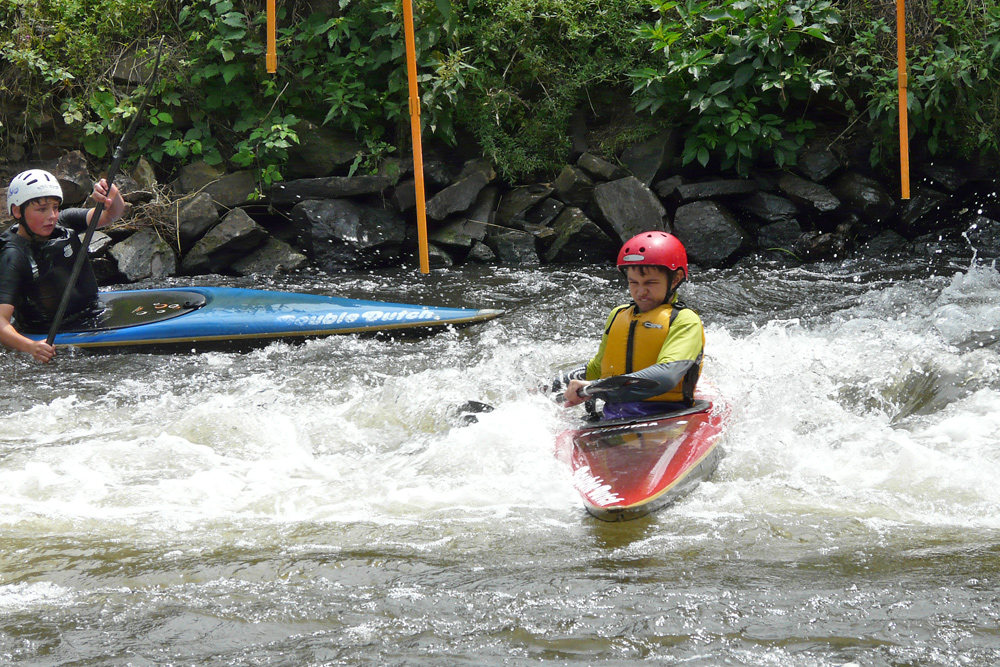
{"label": "bank of dark piled rocks between vegetation and river", "polygon": [[[912,196],[902,200],[898,185],[820,144],[803,150],[793,168],[734,179],[682,169],[677,143],[664,133],[614,157],[581,150],[546,183],[505,184],[482,159],[429,159],[431,266],[612,262],[624,239],[649,229],[672,231],[702,268],[761,255],[787,262],[855,254],[1000,257],[991,169],[917,161]],[[350,152],[340,161],[336,154],[307,142],[290,165],[299,177],[265,192],[251,172],[226,173],[204,163],[159,183],[140,159],[132,173],[116,179],[126,215],[91,244],[99,279],[116,284],[416,264],[411,163],[393,160],[377,175],[347,176],[340,174]],[[81,153],[8,165],[5,181],[28,166],[59,177],[65,206],[87,205],[94,175]],[[0,228],[10,222],[0,221]]]}

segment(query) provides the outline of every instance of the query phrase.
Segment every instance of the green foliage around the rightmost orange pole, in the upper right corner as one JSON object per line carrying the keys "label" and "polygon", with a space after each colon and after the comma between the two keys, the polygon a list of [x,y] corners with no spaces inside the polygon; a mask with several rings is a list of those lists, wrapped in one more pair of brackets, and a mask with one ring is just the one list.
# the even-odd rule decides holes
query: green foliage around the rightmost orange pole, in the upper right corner
{"label": "green foliage around the rightmost orange pole, in the upper right corner", "polygon": [[[845,4],[851,30],[838,86],[850,121],[876,130],[873,165],[895,159],[899,94],[894,5]],[[911,135],[932,153],[1000,149],[1000,7],[934,0],[907,5],[907,111]]]}

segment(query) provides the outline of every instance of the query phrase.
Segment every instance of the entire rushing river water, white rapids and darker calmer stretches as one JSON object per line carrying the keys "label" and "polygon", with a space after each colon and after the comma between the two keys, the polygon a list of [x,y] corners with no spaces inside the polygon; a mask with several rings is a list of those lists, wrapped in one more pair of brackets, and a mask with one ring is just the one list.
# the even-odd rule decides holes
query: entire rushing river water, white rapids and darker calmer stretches
{"label": "entire rushing river water, white rapids and darker calmer stretches", "polygon": [[[595,351],[614,271],[228,284],[507,313],[0,353],[0,664],[1000,663],[992,266],[696,274],[726,454],[621,524],[582,509],[552,452],[571,416],[535,391]],[[468,399],[497,409],[460,427]]]}

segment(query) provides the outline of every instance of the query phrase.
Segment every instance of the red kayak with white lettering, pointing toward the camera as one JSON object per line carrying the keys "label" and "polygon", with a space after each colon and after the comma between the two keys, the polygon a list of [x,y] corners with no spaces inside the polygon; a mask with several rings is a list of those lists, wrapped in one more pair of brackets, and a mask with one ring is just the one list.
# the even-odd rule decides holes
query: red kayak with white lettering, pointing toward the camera
{"label": "red kayak with white lettering, pointing toward the camera", "polygon": [[636,519],[715,471],[728,416],[724,403],[698,400],[662,417],[596,422],[561,433],[556,457],[569,465],[588,512],[602,521]]}

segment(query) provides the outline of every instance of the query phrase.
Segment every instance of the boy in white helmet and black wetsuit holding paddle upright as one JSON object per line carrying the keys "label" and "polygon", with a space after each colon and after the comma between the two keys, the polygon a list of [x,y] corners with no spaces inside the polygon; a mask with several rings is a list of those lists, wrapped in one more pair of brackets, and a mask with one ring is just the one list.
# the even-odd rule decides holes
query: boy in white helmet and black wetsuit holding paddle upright
{"label": "boy in white helmet and black wetsuit holding paddle upright", "polygon": [[[93,196],[104,204],[98,227],[111,224],[125,212],[117,186],[112,185],[109,192],[104,179],[94,185]],[[44,333],[52,324],[76,254],[82,250],[78,234],[86,231],[95,212],[62,211],[62,201],[62,187],[55,176],[42,169],[21,172],[7,187],[8,212],[16,224],[0,235],[0,343],[43,363],[52,359],[55,347],[22,336],[18,329]],[[97,279],[88,261],[72,287],[64,321],[85,317],[96,304]]]}

